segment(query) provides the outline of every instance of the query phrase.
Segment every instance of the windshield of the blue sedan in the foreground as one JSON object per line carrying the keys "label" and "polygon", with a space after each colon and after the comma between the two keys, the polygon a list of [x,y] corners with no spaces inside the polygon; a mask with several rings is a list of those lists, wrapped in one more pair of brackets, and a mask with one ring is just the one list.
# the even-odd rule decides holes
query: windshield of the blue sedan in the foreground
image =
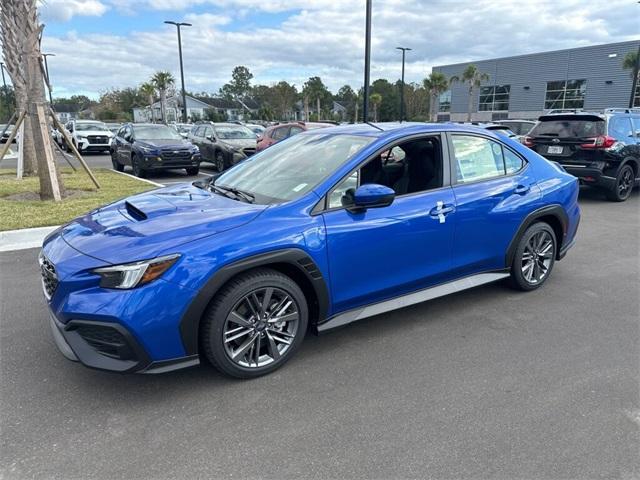
{"label": "windshield of the blue sedan in the foreground", "polygon": [[296,135],[239,163],[218,177],[215,185],[252,193],[258,203],[295,200],[373,140],[355,135]]}

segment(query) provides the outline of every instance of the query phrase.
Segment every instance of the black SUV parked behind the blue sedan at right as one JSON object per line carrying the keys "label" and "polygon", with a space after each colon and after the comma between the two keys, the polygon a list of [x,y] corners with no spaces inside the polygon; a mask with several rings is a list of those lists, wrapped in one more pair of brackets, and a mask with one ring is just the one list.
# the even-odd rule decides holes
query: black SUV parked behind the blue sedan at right
{"label": "black SUV parked behind the blue sedan at right", "polygon": [[558,162],[580,183],[603,189],[624,202],[640,183],[640,110],[543,115],[524,144]]}

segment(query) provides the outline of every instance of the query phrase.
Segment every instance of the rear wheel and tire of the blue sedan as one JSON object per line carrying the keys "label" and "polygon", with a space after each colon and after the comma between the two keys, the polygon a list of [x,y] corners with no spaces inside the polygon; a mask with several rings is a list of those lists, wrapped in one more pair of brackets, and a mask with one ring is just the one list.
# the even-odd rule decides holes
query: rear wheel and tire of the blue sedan
{"label": "rear wheel and tire of the blue sedan", "polygon": [[556,234],[548,223],[527,228],[513,256],[511,286],[525,292],[540,288],[551,275],[557,251]]}

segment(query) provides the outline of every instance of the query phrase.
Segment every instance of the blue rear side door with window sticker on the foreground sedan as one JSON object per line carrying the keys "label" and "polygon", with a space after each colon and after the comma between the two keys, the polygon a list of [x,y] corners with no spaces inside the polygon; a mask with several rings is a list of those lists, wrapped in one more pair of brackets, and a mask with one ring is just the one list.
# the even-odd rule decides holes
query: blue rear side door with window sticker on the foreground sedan
{"label": "blue rear side door with window sticker on the foreground sedan", "polygon": [[471,133],[448,137],[456,201],[455,276],[503,269],[520,223],[542,205],[536,178],[526,160],[502,142]]}

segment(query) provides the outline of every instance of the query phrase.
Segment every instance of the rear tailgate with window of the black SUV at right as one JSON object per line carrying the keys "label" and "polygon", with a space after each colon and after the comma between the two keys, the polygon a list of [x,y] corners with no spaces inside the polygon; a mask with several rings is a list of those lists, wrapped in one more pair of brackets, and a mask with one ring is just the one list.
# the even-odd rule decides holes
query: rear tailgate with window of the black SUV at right
{"label": "rear tailgate with window of the black SUV at right", "polygon": [[602,159],[593,144],[606,132],[605,119],[598,115],[545,115],[529,134],[529,146],[543,157],[568,167],[585,167]]}

